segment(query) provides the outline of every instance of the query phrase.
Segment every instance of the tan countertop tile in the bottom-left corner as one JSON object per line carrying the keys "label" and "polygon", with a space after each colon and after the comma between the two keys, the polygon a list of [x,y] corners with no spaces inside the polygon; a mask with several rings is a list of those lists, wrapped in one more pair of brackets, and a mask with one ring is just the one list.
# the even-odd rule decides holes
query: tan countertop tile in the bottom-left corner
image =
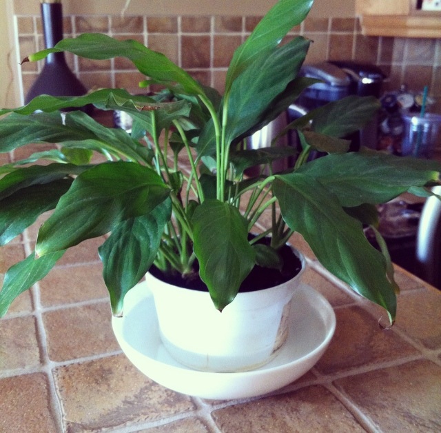
{"label": "tan countertop tile in the bottom-left corner", "polygon": [[0,379],[0,431],[56,433],[45,374]]}

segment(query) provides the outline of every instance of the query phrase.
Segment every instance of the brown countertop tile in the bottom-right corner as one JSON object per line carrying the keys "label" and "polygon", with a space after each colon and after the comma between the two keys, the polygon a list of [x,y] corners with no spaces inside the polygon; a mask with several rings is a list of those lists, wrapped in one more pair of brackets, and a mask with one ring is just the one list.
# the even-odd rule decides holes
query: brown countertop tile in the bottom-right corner
{"label": "brown countertop tile in the bottom-right corner", "polygon": [[413,361],[336,381],[382,432],[435,432],[441,424],[441,367]]}

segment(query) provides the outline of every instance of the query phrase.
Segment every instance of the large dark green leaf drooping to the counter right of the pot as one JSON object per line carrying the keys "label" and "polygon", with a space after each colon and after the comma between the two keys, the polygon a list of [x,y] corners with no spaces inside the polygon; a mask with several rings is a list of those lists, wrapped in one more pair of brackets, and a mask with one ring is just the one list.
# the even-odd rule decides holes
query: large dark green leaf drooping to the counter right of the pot
{"label": "large dark green leaf drooping to the counter right of the pot", "polygon": [[360,221],[349,217],[337,197],[306,174],[276,176],[274,194],[283,219],[299,232],[327,270],[353,290],[396,315],[396,296],[382,254],[367,241]]}

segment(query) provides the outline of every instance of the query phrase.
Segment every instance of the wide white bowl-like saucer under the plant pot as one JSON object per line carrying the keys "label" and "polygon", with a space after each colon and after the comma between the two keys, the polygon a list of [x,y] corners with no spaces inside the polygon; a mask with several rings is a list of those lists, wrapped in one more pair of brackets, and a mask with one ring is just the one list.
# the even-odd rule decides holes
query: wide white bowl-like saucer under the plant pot
{"label": "wide white bowl-like saucer under the plant pot", "polygon": [[114,317],[112,327],[127,358],[150,379],[183,394],[217,400],[267,394],[311,369],[334,334],[334,310],[321,294],[301,284],[289,321],[287,342],[271,362],[236,373],[201,372],[174,361],[159,338],[154,300],[145,282],[127,293],[124,315]]}

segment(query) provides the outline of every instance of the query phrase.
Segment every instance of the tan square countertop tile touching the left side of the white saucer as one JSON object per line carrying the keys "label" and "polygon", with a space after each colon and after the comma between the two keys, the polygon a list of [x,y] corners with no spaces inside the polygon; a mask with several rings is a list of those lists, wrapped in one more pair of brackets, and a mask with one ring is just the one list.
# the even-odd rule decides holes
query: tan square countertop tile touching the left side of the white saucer
{"label": "tan square countertop tile touching the left side of the white saucer", "polygon": [[46,312],[43,322],[49,358],[67,361],[119,350],[111,319],[107,302]]}

